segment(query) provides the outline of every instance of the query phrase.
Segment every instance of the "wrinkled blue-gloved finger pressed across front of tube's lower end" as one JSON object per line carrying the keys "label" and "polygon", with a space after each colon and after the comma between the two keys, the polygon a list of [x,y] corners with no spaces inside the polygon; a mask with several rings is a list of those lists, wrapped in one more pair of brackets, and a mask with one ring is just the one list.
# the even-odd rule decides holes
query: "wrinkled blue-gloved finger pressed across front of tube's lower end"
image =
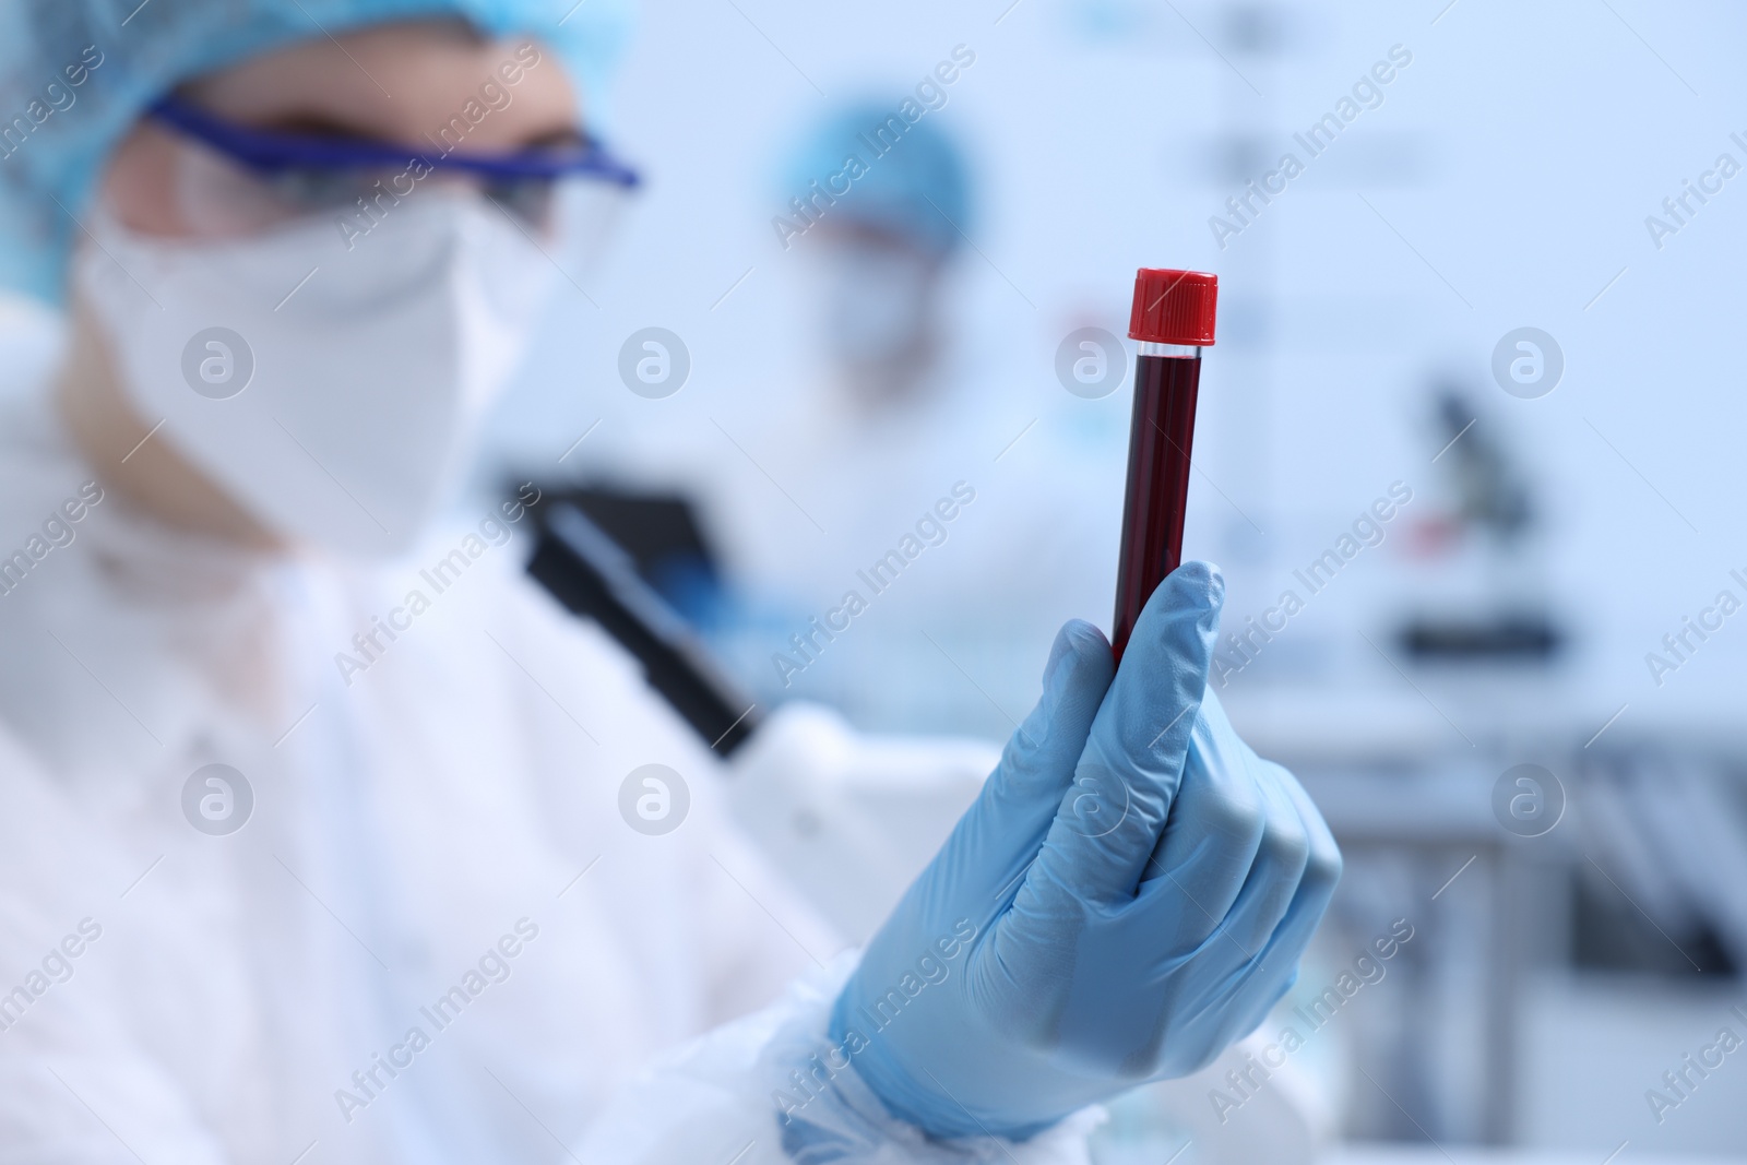
{"label": "wrinkled blue-gloved finger pressed across front of tube's lower end", "polygon": [[1034,877],[1081,901],[1134,898],[1183,777],[1223,599],[1219,571],[1186,562],[1148,601]]}

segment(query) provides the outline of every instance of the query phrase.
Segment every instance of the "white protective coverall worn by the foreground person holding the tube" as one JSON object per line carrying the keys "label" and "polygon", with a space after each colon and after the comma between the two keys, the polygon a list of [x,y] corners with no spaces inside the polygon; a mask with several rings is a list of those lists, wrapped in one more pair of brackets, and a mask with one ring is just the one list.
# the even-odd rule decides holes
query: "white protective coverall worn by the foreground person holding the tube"
{"label": "white protective coverall worn by the foreground person holding the tube", "polygon": [[[1088,1118],[928,1144],[853,1072],[805,1109],[828,1144],[784,1149],[772,1090],[853,955],[521,573],[531,519],[384,568],[252,557],[103,491],[45,386],[7,398],[0,1162],[1083,1160]],[[374,620],[402,629],[342,674]],[[183,807],[210,763],[253,800],[232,833]],[[662,837],[618,809],[646,763],[692,795]]]}

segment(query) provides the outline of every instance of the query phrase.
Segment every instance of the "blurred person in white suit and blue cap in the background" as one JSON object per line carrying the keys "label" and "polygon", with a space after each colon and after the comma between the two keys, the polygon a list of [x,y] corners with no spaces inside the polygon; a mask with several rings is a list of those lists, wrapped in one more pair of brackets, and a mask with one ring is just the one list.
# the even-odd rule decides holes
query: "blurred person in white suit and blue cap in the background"
{"label": "blurred person in white suit and blue cap in the background", "polygon": [[[1127,451],[1120,433],[1088,438],[1087,402],[1025,363],[1029,311],[975,307],[977,281],[999,281],[970,245],[978,171],[940,112],[896,108],[837,108],[779,168],[807,365],[758,386],[753,459],[716,442],[657,479],[697,500],[727,568],[676,599],[765,700],[994,734],[1005,713],[956,665],[1006,700],[999,678],[1045,646],[1019,629],[1104,615]],[[914,566],[901,580],[893,550]],[[847,592],[877,615],[844,615]],[[814,618],[844,634],[823,639]]]}

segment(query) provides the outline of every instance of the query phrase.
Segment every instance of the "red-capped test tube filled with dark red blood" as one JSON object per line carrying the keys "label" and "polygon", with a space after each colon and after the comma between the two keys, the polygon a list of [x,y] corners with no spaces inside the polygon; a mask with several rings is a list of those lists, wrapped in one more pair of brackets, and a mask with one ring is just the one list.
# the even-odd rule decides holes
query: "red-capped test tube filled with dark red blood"
{"label": "red-capped test tube filled with dark red blood", "polygon": [[1218,299],[1219,276],[1200,271],[1141,267],[1134,278],[1129,339],[1139,342],[1139,351],[1111,632],[1118,662],[1141,608],[1183,561],[1200,353],[1212,348]]}

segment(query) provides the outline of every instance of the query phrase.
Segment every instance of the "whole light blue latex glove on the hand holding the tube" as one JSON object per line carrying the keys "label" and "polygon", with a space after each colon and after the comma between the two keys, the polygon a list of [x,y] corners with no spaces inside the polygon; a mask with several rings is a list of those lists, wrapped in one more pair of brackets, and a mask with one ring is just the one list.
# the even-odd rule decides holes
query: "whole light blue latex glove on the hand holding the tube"
{"label": "whole light blue latex glove on the hand holding the tube", "polygon": [[1036,711],[868,945],[832,1039],[894,1116],[1031,1135],[1254,1031],[1298,975],[1340,851],[1207,692],[1225,580],[1153,594],[1111,650],[1062,627]]}

